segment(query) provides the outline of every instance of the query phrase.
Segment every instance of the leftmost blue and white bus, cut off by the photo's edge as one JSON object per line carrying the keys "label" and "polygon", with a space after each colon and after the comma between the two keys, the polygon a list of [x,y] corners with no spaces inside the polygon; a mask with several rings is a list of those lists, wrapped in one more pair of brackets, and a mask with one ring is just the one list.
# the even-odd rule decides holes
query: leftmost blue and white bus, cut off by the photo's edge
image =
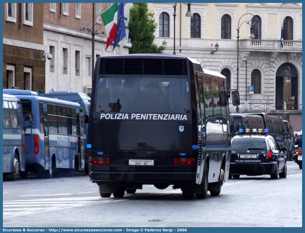
{"label": "leftmost blue and white bus, cut off by the photo's edge", "polygon": [[25,135],[21,102],[3,94],[3,177],[15,181],[25,171]]}

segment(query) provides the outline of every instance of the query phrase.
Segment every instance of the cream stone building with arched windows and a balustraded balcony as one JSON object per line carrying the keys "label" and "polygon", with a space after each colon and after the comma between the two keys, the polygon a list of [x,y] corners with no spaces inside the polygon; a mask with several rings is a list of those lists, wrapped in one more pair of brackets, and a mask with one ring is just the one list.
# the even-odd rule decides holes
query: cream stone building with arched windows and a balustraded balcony
{"label": "cream stone building with arched windows and a balustraded balcony", "polygon": [[[149,3],[158,25],[155,43],[166,40],[170,54],[174,8],[176,54],[227,77],[228,87],[237,88],[241,98],[239,109],[231,106],[231,112],[264,111],[302,129],[302,3],[192,3],[193,17],[185,17],[186,3]],[[248,38],[251,33],[255,38]]]}

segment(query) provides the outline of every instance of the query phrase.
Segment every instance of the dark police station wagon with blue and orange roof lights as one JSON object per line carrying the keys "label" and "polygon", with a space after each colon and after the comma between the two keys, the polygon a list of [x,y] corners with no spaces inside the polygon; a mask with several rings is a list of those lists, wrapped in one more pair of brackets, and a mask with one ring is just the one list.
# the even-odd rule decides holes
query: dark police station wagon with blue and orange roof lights
{"label": "dark police station wagon with blue and orange roof lights", "polygon": [[239,129],[239,135],[231,141],[229,178],[240,175],[270,175],[271,179],[286,178],[287,165],[283,151],[265,129]]}

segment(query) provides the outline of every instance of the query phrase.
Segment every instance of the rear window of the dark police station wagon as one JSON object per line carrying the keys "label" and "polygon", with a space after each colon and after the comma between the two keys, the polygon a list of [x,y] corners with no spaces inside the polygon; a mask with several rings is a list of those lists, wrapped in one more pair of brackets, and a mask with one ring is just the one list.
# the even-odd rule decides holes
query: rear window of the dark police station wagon
{"label": "rear window of the dark police station wagon", "polygon": [[232,150],[267,150],[265,138],[243,137],[234,138],[231,144]]}

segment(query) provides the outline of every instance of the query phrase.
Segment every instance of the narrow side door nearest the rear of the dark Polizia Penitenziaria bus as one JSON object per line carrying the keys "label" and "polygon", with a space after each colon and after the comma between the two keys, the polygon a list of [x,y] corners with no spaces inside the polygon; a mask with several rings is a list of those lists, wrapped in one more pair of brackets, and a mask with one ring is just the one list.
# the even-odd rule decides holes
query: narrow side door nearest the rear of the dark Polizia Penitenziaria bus
{"label": "narrow side door nearest the rear of the dark Polizia Penitenziaria bus", "polygon": [[[196,76],[195,76],[196,77]],[[201,77],[199,77],[201,78]],[[197,79],[198,87],[196,87],[196,99],[197,99],[197,120],[198,120],[198,163],[197,163],[197,176],[196,184],[202,183],[203,169],[205,164],[205,118],[204,118],[204,103],[203,103],[203,89],[201,79]],[[199,174],[199,175],[198,175]]]}

